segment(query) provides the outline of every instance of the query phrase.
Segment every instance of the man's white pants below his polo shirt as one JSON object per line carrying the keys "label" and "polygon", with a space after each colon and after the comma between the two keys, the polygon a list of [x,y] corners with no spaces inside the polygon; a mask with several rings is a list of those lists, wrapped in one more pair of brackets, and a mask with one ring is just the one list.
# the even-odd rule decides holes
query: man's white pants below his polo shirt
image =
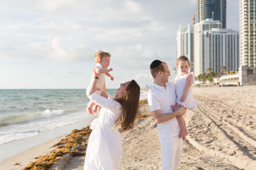
{"label": "man's white pants below his polo shirt", "polygon": [[161,144],[162,170],[177,170],[180,166],[183,140],[175,137],[159,138]]}

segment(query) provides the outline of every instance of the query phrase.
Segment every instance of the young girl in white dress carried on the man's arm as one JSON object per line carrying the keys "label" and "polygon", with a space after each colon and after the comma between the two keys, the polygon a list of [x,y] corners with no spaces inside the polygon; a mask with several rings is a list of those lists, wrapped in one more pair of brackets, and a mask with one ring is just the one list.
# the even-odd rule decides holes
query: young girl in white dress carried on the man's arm
{"label": "young girl in white dress carried on the man's arm", "polygon": [[[184,106],[186,108],[197,108],[196,101],[192,94],[192,84],[195,81],[194,72],[189,73],[189,59],[185,55],[181,55],[177,59],[177,68],[180,71],[180,75],[175,77],[175,92],[176,102],[178,106]],[[189,134],[186,128],[185,120],[182,116],[176,116],[180,126],[180,138],[185,140],[186,135]]]}

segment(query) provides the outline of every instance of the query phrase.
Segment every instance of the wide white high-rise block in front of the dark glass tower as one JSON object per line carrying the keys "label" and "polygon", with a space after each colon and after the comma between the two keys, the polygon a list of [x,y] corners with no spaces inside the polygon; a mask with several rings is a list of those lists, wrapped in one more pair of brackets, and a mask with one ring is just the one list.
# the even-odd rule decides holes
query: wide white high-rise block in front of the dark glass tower
{"label": "wide white high-rise block in front of the dark glass tower", "polygon": [[[198,23],[197,23],[198,24]],[[211,68],[221,72],[239,68],[239,33],[232,29],[212,28],[200,30],[195,35],[194,72],[198,76]]]}

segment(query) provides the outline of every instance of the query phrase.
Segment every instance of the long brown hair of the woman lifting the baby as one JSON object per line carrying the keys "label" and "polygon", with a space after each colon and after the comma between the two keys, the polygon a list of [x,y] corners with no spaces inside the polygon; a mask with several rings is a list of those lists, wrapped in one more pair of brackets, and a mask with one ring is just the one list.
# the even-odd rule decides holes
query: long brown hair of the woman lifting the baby
{"label": "long brown hair of the woman lifting the baby", "polygon": [[132,130],[140,110],[140,86],[135,80],[131,80],[130,84],[126,87],[125,95],[114,100],[122,105],[122,114],[116,120],[117,126],[120,124],[121,130]]}

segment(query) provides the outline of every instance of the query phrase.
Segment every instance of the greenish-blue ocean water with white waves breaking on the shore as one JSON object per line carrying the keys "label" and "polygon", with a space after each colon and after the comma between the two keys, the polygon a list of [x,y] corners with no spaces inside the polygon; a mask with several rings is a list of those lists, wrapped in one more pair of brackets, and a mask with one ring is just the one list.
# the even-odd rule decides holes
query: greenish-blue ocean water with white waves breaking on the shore
{"label": "greenish-blue ocean water with white waves breaking on the shore", "polygon": [[[86,89],[0,90],[0,144],[90,119]],[[111,95],[116,89],[107,89]],[[140,100],[147,98],[141,91]],[[98,113],[97,113],[98,114]],[[86,126],[86,125],[85,125]]]}

